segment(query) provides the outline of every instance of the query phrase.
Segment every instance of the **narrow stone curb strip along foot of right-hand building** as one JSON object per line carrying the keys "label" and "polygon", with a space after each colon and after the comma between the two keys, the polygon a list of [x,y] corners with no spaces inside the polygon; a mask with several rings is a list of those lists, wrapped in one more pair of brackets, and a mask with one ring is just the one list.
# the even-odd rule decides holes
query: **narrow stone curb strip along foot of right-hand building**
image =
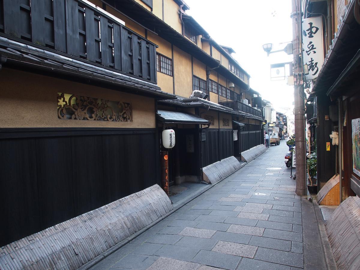
{"label": "narrow stone curb strip along foot of right-hand building", "polygon": [[314,206],[316,220],[318,221],[321,243],[323,244],[325,262],[328,270],[337,270],[334,255],[330,247],[328,235],[326,233],[324,221],[322,218],[321,210],[318,202],[316,201],[316,195],[312,196],[312,205]]}

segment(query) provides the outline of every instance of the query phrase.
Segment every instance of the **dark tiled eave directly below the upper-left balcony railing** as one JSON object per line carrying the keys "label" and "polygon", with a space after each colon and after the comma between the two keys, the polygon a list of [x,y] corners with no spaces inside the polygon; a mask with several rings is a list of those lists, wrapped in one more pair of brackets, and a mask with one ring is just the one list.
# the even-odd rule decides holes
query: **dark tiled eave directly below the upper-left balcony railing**
{"label": "dark tiled eave directly below the upper-left balcony railing", "polygon": [[[174,99],[176,96],[161,91],[148,81],[127,76],[116,70],[95,66],[89,61],[72,59],[51,51],[0,37],[0,57],[4,67],[21,68],[27,72],[44,72],[67,80],[77,80],[92,85],[126,91],[156,98]],[[4,59],[5,58],[5,59]],[[40,72],[41,71],[41,72]],[[120,88],[121,87],[121,88]]]}

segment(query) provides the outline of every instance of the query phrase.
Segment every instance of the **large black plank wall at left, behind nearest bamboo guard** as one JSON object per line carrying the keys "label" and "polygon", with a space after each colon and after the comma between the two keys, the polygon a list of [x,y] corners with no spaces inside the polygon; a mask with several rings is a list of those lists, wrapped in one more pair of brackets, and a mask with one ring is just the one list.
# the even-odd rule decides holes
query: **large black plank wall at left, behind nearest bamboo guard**
{"label": "large black plank wall at left, behind nearest bamboo guard", "polygon": [[0,246],[160,184],[156,148],[155,129],[0,139]]}

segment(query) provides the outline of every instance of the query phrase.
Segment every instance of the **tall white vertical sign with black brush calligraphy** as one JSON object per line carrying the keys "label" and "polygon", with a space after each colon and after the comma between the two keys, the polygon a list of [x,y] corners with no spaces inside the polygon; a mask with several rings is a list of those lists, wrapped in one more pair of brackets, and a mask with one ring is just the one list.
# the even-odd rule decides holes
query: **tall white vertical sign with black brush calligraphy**
{"label": "tall white vertical sign with black brush calligraphy", "polygon": [[323,21],[320,17],[303,19],[302,43],[304,64],[309,66],[308,80],[318,77],[324,62]]}

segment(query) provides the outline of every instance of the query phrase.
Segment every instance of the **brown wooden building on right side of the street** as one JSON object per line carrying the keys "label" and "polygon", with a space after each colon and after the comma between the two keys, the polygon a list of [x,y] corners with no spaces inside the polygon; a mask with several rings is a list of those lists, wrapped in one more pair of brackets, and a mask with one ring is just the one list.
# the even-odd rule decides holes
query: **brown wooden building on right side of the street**
{"label": "brown wooden building on right side of the street", "polygon": [[360,6],[359,1],[310,2],[305,18],[323,14],[327,33],[324,48],[318,48],[324,49],[324,64],[312,66],[318,77],[306,105],[316,142],[318,202],[339,205],[325,224],[337,269],[359,269]]}

